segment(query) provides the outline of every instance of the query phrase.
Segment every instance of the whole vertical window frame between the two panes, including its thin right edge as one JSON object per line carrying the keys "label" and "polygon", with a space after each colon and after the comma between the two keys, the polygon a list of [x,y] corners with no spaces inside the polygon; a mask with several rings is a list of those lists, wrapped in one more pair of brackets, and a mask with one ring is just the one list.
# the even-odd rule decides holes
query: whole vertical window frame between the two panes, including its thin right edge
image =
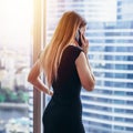
{"label": "whole vertical window frame between the two panes, including its thin right edge", "polygon": [[[45,6],[47,0],[33,0],[33,63],[45,45]],[[44,81],[44,76],[42,76]],[[33,133],[42,133],[42,114],[45,108],[45,94],[33,88]]]}

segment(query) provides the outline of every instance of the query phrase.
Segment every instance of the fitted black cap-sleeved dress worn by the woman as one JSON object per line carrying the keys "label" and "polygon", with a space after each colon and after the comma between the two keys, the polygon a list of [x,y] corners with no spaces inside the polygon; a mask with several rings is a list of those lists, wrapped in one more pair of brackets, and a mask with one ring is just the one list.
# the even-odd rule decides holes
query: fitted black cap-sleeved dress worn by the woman
{"label": "fitted black cap-sleeved dress worn by the woman", "polygon": [[74,45],[63,51],[58,79],[52,83],[54,93],[42,117],[44,133],[85,133],[80,100],[81,82],[75,68],[81,51]]}

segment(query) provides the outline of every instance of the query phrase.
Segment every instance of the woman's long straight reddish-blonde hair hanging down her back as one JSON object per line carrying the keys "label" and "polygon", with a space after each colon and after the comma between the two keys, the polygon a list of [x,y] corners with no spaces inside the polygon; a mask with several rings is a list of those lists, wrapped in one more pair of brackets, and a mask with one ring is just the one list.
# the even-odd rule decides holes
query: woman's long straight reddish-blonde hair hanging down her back
{"label": "woman's long straight reddish-blonde hair hanging down her back", "polygon": [[60,19],[50,43],[40,55],[40,63],[47,76],[49,88],[58,76],[58,66],[63,50],[73,42],[78,28],[85,24],[85,20],[74,11],[63,13]]}

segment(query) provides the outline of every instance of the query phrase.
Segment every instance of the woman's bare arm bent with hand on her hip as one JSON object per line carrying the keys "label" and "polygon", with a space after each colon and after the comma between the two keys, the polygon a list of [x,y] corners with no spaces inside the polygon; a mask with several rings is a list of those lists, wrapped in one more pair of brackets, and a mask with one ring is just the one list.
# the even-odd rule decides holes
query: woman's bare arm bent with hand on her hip
{"label": "woman's bare arm bent with hand on her hip", "polygon": [[28,82],[34,85],[39,91],[43,91],[44,93],[52,95],[53,92],[48,89],[48,86],[40,79],[40,62],[39,60],[33,64],[29,75]]}

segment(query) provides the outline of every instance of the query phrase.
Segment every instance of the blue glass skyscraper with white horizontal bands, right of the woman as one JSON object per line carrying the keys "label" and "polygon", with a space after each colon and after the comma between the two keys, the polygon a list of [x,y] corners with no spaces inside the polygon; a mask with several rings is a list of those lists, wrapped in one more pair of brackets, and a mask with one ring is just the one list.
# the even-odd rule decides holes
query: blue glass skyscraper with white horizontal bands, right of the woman
{"label": "blue glass skyscraper with white horizontal bands, right of the woman", "polygon": [[133,1],[117,0],[115,21],[89,23],[90,62],[96,85],[94,92],[82,93],[86,133],[133,132],[131,7]]}

